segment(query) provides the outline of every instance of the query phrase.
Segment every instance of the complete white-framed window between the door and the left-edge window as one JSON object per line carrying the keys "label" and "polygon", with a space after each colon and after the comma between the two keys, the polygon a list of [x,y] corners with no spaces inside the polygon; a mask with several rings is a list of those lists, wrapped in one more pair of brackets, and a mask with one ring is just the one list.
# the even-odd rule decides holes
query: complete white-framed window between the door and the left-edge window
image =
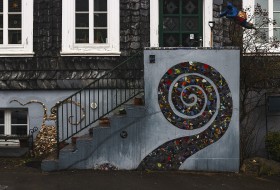
{"label": "complete white-framed window between the door and the left-edge window", "polygon": [[120,55],[119,0],[62,0],[61,55]]}

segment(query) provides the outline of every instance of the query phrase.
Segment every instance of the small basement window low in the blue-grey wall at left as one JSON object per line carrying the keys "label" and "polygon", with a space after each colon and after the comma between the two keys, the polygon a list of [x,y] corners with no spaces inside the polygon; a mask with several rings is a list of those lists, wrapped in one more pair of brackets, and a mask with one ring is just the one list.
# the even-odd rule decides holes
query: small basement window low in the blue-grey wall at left
{"label": "small basement window low in the blue-grey wall at left", "polygon": [[27,135],[27,109],[0,110],[0,135]]}

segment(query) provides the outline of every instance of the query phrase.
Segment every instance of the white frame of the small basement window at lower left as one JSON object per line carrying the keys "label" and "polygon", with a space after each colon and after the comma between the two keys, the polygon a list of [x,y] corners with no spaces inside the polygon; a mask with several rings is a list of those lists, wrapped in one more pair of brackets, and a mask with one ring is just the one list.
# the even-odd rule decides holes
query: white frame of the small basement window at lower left
{"label": "white frame of the small basement window at lower left", "polygon": [[[0,124],[1,126],[4,126],[4,135],[12,135],[12,125],[26,125],[27,128],[27,133],[29,133],[29,116],[27,112],[27,123],[21,123],[21,124],[12,124],[12,111],[15,110],[14,108],[12,109],[4,109],[4,124]],[[19,109],[23,110],[23,109]],[[28,110],[27,110],[28,111]]]}

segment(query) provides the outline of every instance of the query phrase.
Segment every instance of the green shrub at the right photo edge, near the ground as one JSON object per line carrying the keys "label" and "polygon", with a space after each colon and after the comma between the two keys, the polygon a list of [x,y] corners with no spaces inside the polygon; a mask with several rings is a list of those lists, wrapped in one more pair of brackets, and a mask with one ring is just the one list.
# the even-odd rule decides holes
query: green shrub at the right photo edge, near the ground
{"label": "green shrub at the right photo edge, near the ground", "polygon": [[280,132],[269,132],[265,146],[271,159],[280,161]]}

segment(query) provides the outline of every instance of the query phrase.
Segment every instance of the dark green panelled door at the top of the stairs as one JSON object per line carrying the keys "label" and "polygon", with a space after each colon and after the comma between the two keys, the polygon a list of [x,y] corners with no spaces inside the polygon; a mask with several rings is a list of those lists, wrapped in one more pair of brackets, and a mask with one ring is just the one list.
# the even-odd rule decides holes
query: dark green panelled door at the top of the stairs
{"label": "dark green panelled door at the top of the stairs", "polygon": [[159,0],[159,46],[200,46],[202,12],[202,0]]}

